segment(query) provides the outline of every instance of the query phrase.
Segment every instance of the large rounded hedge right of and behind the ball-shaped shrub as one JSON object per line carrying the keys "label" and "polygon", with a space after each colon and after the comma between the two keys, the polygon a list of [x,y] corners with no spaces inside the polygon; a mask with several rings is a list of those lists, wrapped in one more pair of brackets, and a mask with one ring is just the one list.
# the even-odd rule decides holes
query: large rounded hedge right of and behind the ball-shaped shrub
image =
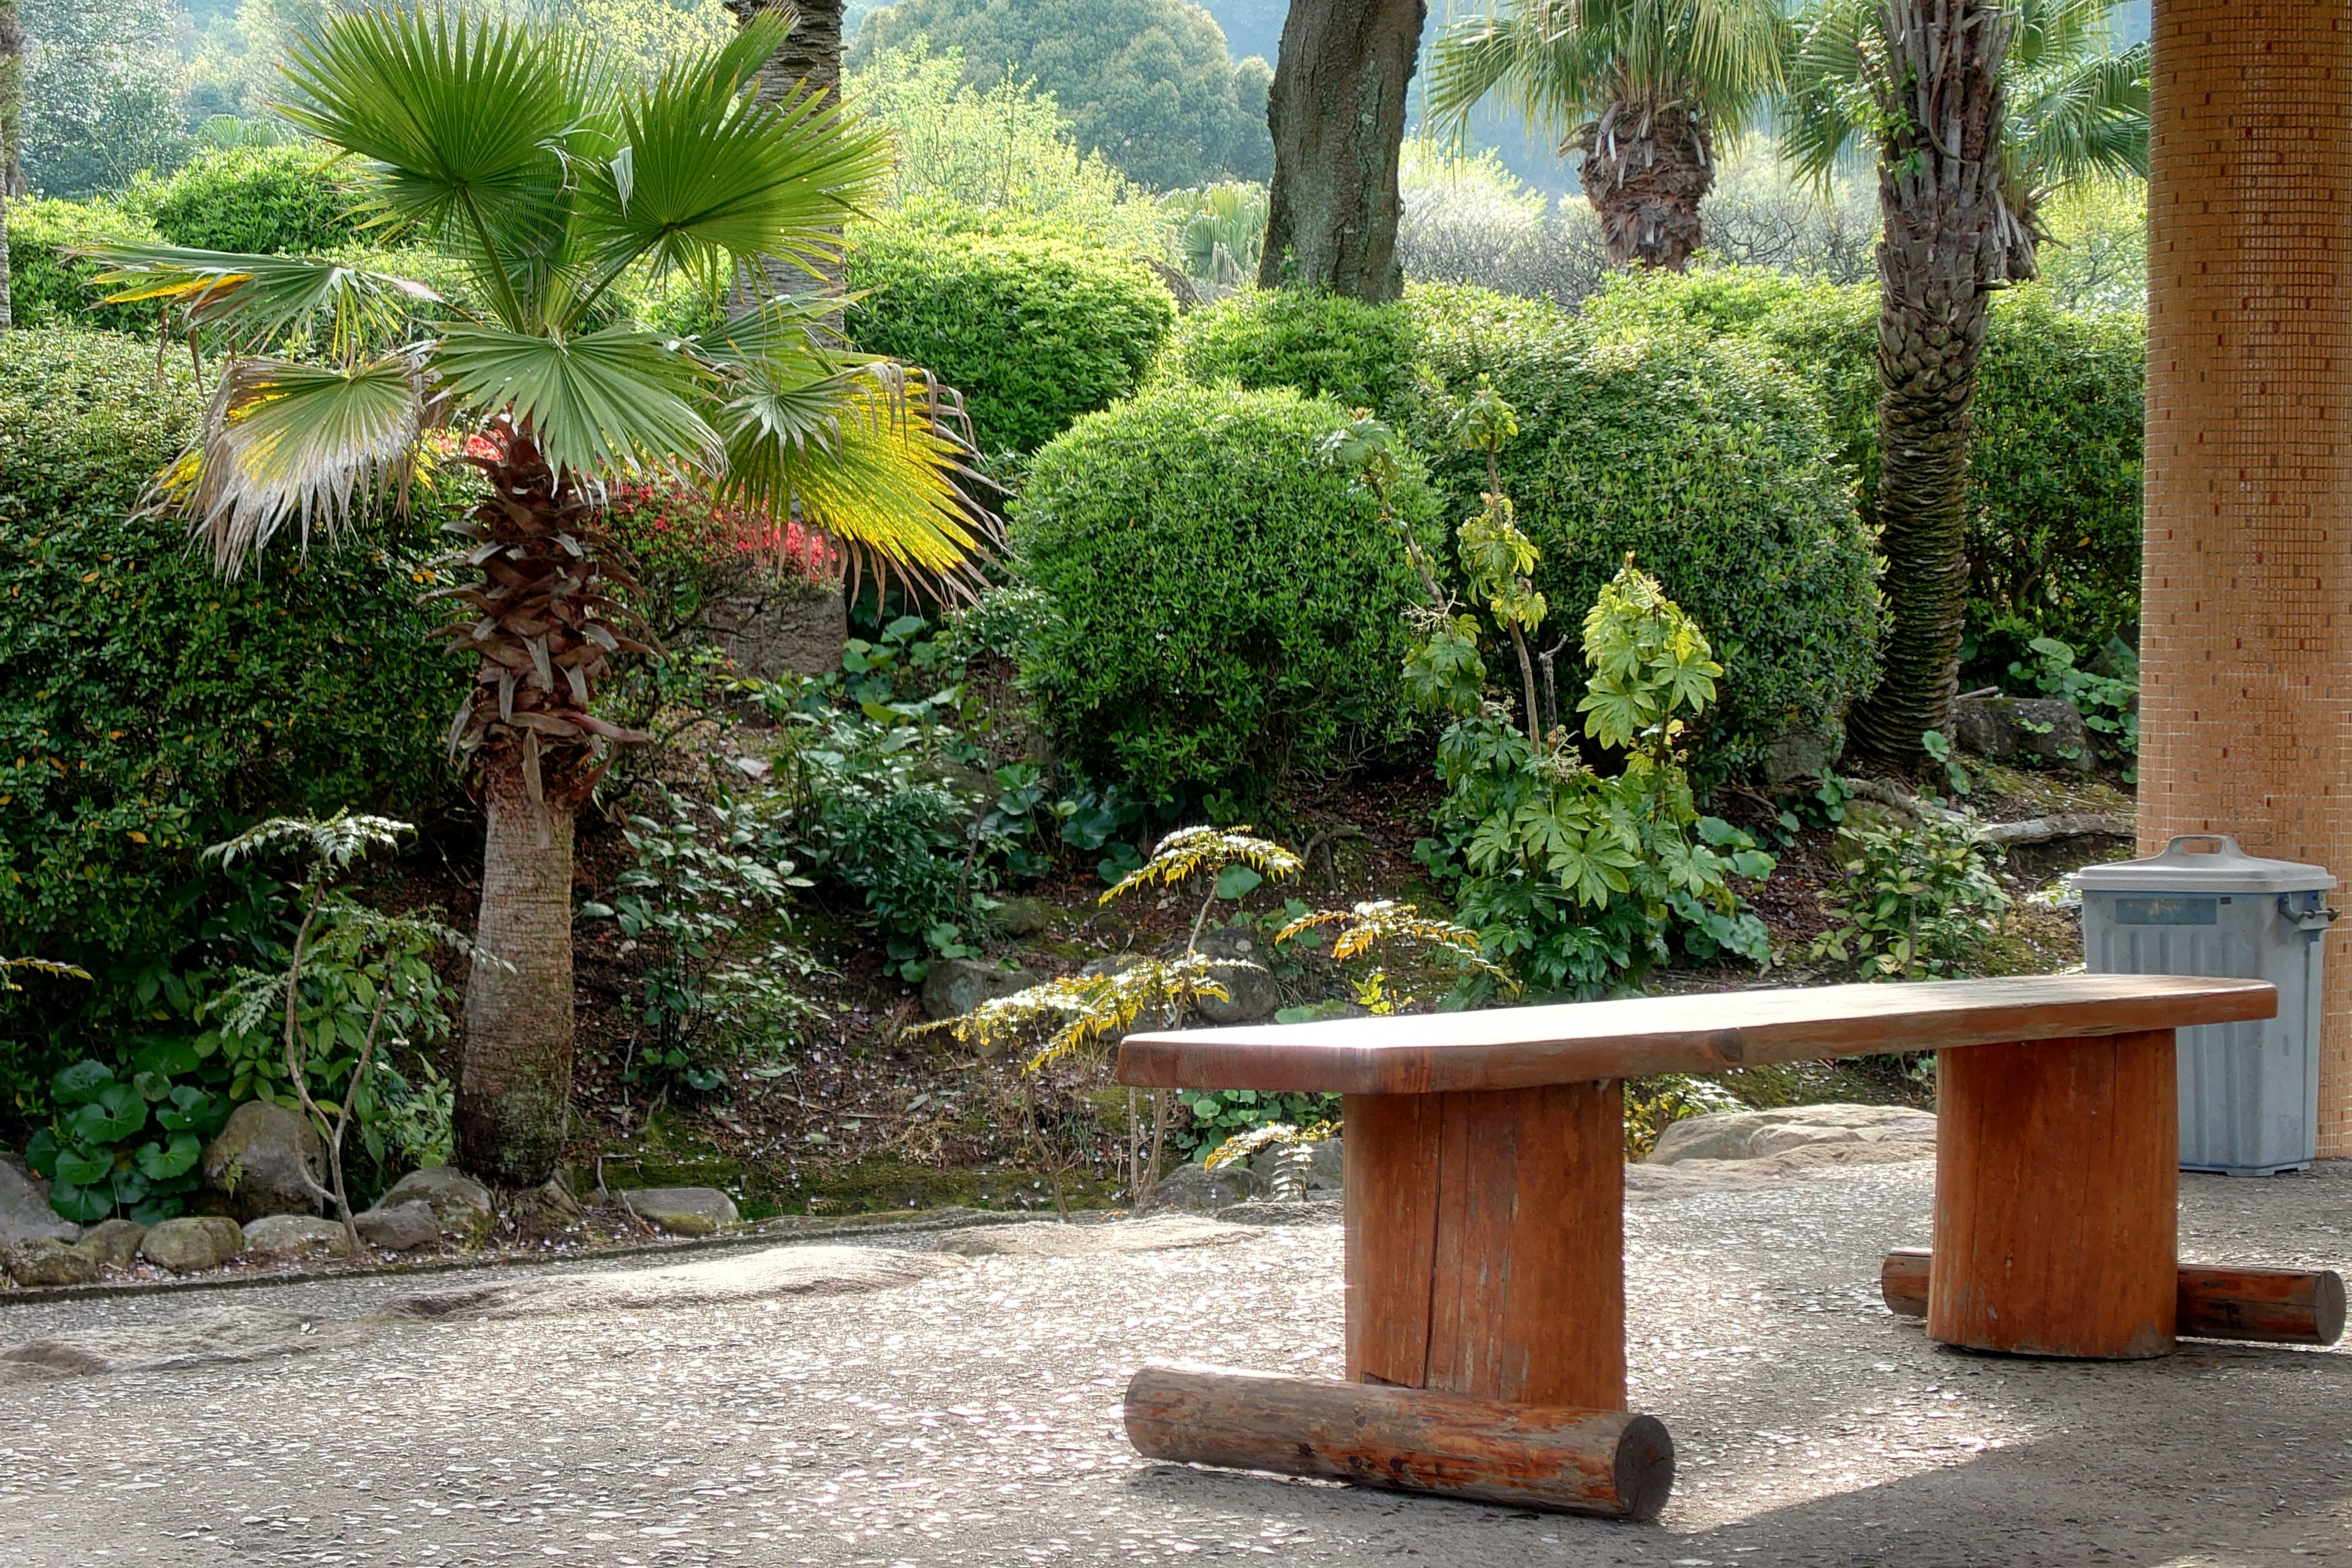
{"label": "large rounded hedge right of and behind the ball-shaped shrub", "polygon": [[1543,550],[1552,635],[1576,630],[1632,550],[1715,642],[1726,677],[1703,771],[1820,724],[1870,682],[1877,595],[1851,473],[1813,393],[1766,353],[1689,324],[1604,331],[1484,289],[1334,306],[1237,296],[1185,322],[1174,369],[1242,386],[1296,376],[1402,418],[1432,454],[1449,520],[1477,508],[1484,461],[1446,447],[1446,411],[1494,381],[1519,414],[1503,484]]}

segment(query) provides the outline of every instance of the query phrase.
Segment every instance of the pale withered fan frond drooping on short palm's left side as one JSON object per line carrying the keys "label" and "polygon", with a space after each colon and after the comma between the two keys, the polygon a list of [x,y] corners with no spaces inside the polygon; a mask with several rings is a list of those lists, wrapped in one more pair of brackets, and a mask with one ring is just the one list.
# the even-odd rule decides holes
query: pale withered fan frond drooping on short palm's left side
{"label": "pale withered fan frond drooping on short palm's left side", "polygon": [[235,578],[287,517],[329,534],[350,508],[407,480],[426,423],[426,388],[402,355],[353,367],[230,360],[198,444],[160,480]]}

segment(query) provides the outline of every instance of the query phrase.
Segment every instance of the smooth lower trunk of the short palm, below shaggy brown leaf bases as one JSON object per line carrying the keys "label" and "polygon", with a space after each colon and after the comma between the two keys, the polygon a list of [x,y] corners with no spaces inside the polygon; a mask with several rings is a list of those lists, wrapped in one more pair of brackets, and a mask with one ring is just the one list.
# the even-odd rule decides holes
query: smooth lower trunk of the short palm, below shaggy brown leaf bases
{"label": "smooth lower trunk of the short palm, below shaggy brown leaf bases", "polygon": [[539,804],[520,769],[482,780],[475,943],[506,959],[466,985],[456,1164],[508,1187],[555,1173],[572,1114],[572,811]]}

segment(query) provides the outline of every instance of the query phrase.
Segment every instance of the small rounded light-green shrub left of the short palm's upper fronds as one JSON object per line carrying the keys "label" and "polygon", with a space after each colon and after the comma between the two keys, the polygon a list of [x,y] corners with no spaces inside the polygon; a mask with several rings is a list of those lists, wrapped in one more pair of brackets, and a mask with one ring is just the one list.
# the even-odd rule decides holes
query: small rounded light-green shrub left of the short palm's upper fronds
{"label": "small rounded light-green shrub left of the short palm's upper fronds", "polygon": [[207,252],[308,256],[362,242],[353,183],[310,141],[207,148],[134,200],[165,240]]}

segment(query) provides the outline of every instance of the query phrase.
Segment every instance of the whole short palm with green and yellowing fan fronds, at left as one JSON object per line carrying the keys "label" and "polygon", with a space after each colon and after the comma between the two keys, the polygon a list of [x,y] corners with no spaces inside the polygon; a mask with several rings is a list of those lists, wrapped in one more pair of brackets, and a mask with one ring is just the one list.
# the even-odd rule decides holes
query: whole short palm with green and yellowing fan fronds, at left
{"label": "whole short palm with green and yellowing fan fronds, at left", "polygon": [[[287,522],[306,543],[353,524],[442,430],[487,482],[433,597],[475,658],[449,736],[487,820],[477,943],[496,959],[466,992],[456,1138],[503,1182],[543,1180],[564,1135],[572,818],[614,748],[647,738],[593,712],[607,658],[637,649],[604,482],[699,477],[934,581],[993,524],[957,487],[964,447],[929,381],[828,348],[828,294],[694,339],[637,327],[616,294],[677,268],[717,301],[769,259],[811,268],[887,176],[887,139],[830,101],[757,99],[786,26],[762,16],[642,80],[529,26],[369,9],[306,31],[282,113],[353,158],[386,226],[463,261],[480,315],[332,261],[96,252],[132,284],[118,299],[169,301],[238,346],[162,482],[223,574]],[[294,357],[303,343],[325,353]]]}

